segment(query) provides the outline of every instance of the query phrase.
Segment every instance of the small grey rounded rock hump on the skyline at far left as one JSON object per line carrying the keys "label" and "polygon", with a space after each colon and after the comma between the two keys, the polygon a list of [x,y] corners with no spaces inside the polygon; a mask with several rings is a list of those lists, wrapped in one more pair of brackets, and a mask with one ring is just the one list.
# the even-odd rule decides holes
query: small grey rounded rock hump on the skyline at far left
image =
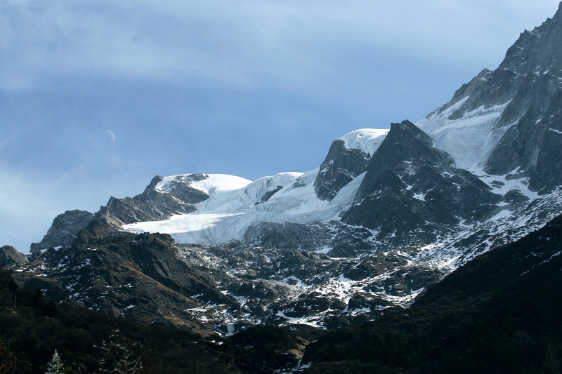
{"label": "small grey rounded rock hump on the skyline at far left", "polygon": [[92,220],[93,214],[86,211],[66,211],[57,215],[43,239],[39,243],[32,243],[31,252],[72,243],[78,232]]}

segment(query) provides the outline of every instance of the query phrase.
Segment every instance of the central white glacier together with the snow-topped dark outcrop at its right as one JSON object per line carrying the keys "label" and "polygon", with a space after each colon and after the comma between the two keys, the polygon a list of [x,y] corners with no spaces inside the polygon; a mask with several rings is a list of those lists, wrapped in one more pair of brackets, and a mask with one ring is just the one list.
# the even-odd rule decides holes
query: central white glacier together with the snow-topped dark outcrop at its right
{"label": "central white glacier together with the snow-topped dark outcrop at its right", "polygon": [[178,243],[210,245],[242,241],[249,227],[266,222],[312,225],[338,220],[353,201],[366,163],[386,133],[364,129],[344,135],[334,141],[322,166],[308,173],[280,173],[254,182],[233,175],[204,175],[197,181],[192,175],[163,178],[154,187],[159,194],[186,182],[209,198],[195,204],[192,213],[122,228],[171,234]]}

